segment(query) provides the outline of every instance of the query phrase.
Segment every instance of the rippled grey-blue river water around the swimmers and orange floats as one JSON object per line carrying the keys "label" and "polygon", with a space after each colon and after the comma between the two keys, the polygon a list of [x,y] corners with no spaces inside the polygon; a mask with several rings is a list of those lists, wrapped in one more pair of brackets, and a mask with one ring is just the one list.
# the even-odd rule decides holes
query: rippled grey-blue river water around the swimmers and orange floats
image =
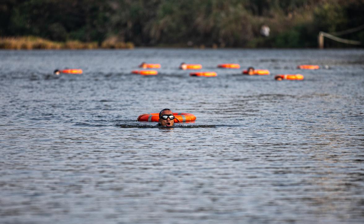
{"label": "rippled grey-blue river water around the swimmers and orange floats", "polygon": [[[353,49],[0,51],[0,223],[362,223],[363,73]],[[197,119],[136,121],[163,108]]]}

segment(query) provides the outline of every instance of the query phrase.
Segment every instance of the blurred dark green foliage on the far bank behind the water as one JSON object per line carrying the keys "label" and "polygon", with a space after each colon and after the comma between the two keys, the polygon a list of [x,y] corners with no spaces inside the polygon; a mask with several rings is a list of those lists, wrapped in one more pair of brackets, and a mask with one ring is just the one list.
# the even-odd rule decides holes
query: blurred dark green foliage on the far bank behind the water
{"label": "blurred dark green foliage on the far bank behind the water", "polygon": [[[0,36],[100,47],[317,47],[319,31],[362,25],[363,8],[363,0],[1,0]],[[364,43],[364,30],[340,37]]]}

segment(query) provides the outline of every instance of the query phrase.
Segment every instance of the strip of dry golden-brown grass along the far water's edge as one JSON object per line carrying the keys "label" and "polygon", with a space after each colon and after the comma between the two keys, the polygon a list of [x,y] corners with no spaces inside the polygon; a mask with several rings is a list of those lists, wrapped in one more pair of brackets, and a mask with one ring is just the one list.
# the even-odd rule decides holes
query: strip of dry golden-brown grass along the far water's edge
{"label": "strip of dry golden-brown grass along the far water's edge", "polygon": [[33,50],[33,49],[132,49],[131,42],[120,42],[115,39],[106,39],[102,43],[81,42],[79,40],[68,40],[66,42],[55,42],[52,40],[36,37],[5,37],[0,38],[0,49],[7,50]]}

